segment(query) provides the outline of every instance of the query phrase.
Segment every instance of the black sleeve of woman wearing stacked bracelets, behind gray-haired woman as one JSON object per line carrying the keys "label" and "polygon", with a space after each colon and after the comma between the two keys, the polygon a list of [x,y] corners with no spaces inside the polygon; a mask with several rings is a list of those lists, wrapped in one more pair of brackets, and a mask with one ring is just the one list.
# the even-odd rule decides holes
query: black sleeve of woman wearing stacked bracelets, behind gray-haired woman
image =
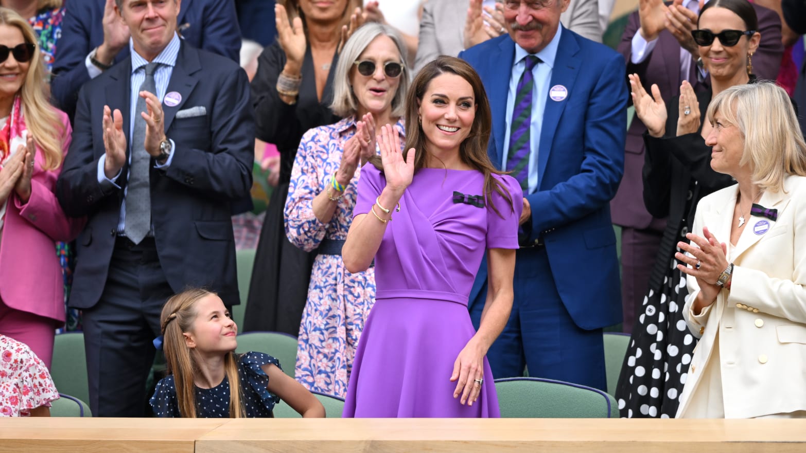
{"label": "black sleeve of woman wearing stacked bracelets, behind gray-haired woman", "polygon": [[297,105],[288,105],[277,94],[277,77],[285,67],[285,52],[280,44],[266,47],[258,57],[255,78],[251,82],[255,107],[256,137],[274,143],[279,149],[297,149],[301,131]]}

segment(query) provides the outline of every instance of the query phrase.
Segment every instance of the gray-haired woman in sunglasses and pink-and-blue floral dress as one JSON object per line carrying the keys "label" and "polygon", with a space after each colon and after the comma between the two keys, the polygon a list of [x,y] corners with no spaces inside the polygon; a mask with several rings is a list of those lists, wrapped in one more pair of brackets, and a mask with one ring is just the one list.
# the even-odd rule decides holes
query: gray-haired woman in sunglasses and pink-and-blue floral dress
{"label": "gray-haired woman in sunglasses and pink-and-blue floral dress", "polygon": [[352,222],[361,167],[376,154],[376,125],[402,116],[409,72],[392,27],[368,23],[345,44],[334,73],[331,108],[342,121],[302,136],[285,202],[285,233],[300,249],[318,249],[302,314],[295,377],[310,390],[347,394],[355,348],[375,303],[374,268],[351,274],[342,245]]}

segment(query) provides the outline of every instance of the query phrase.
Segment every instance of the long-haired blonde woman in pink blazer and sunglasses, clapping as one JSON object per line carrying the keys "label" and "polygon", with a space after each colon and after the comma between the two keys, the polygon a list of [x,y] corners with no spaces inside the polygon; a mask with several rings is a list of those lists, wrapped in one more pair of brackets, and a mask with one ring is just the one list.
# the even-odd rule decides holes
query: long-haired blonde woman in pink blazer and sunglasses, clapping
{"label": "long-haired blonde woman in pink blazer and sunglasses, clapping", "polygon": [[71,128],[48,103],[44,72],[34,31],[0,8],[0,334],[50,367],[64,323],[56,241],[71,241],[83,222],[64,216],[53,194]]}

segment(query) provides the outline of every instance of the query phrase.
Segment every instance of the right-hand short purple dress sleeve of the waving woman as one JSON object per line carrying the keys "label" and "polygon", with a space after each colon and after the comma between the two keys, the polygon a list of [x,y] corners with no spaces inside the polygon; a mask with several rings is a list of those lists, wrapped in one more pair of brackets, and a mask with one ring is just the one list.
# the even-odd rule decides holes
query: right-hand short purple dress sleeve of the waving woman
{"label": "right-hand short purple dress sleeve of the waving woman", "polygon": [[[523,191],[521,185],[509,175],[492,175],[498,179],[503,189],[509,191],[512,197],[509,200],[497,191],[492,191],[492,202],[501,215],[498,215],[490,206],[487,208],[487,248],[488,249],[517,249],[517,228],[523,212]],[[534,207],[533,207],[534,208]]]}

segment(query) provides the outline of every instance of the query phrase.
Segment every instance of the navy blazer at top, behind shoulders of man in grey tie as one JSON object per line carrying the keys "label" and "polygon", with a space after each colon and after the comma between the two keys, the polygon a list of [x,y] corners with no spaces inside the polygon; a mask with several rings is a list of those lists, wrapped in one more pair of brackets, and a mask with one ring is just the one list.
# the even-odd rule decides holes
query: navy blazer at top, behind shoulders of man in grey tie
{"label": "navy blazer at top, behind shoulders of man in grey tie", "polygon": [[[103,43],[104,0],[70,0],[64,10],[61,38],[53,62],[51,94],[53,104],[73,121],[81,85],[89,80],[84,64],[89,52]],[[177,27],[185,43],[239,62],[241,31],[232,0],[182,0]],[[129,58],[129,46],[115,57]]]}

